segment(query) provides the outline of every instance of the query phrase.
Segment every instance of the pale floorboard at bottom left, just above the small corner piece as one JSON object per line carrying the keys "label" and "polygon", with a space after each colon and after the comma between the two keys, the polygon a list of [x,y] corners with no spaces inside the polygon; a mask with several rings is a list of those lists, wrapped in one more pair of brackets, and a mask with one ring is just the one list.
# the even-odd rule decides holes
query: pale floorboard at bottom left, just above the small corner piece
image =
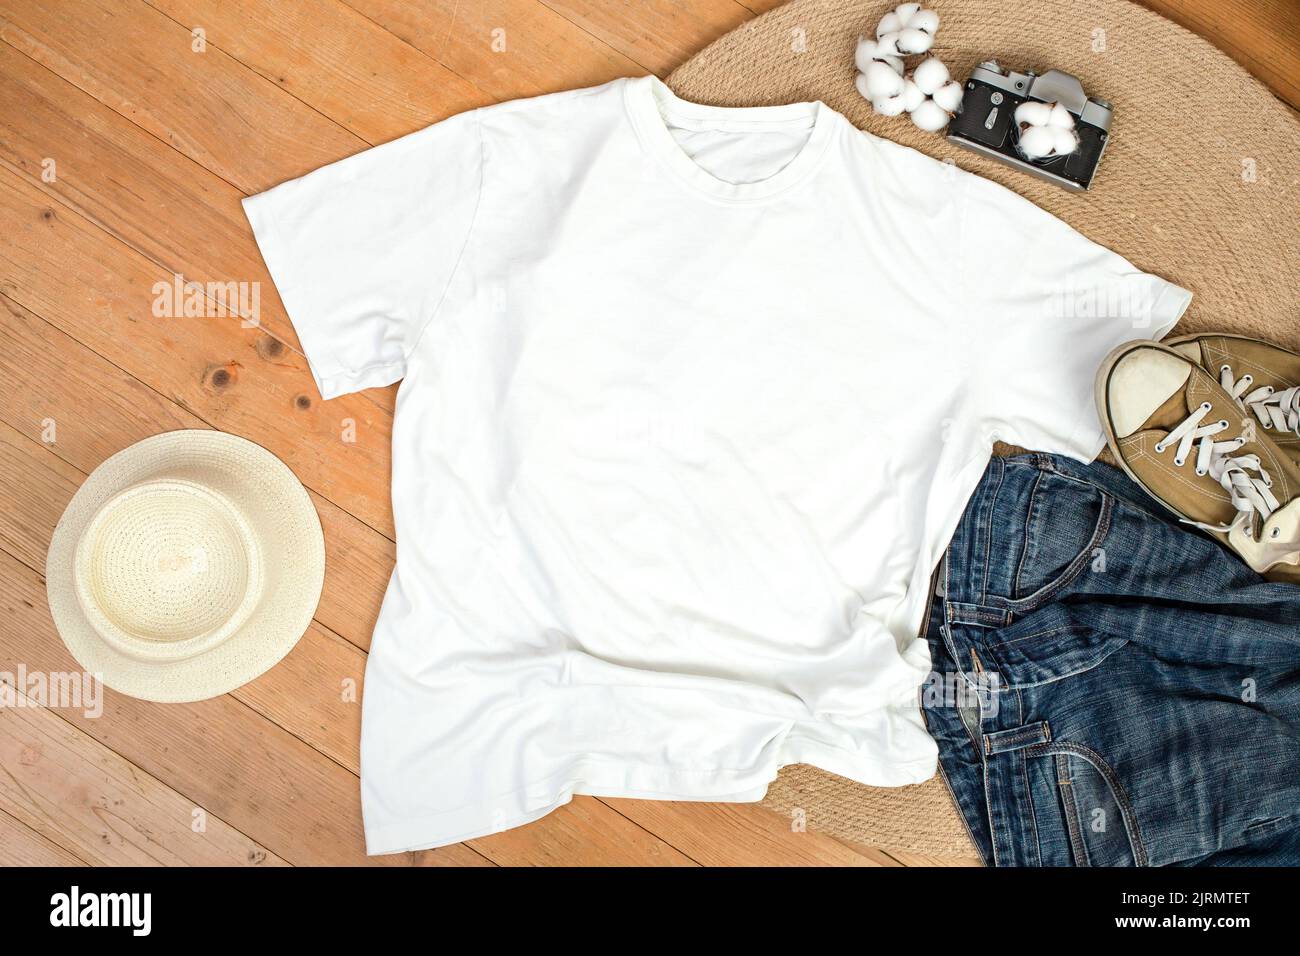
{"label": "pale floorboard at bottom left, just above the small corner piece", "polygon": [[65,848],[78,862],[285,865],[55,711],[36,706],[26,695],[20,700],[27,706],[0,708],[0,810]]}

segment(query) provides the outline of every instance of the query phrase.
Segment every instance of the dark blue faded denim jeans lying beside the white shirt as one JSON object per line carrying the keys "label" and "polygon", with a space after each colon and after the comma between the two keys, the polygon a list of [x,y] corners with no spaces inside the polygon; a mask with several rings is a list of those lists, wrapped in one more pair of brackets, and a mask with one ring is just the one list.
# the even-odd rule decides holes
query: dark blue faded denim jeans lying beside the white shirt
{"label": "dark blue faded denim jeans lying beside the white shirt", "polygon": [[926,721],[985,862],[1300,864],[1300,587],[1121,471],[994,459],[927,639]]}

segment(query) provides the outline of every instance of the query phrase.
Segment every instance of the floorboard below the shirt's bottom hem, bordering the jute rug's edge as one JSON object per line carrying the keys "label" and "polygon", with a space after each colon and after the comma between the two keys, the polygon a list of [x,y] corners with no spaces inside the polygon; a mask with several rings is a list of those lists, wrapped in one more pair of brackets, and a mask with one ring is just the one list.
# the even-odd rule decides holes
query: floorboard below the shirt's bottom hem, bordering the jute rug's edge
{"label": "floorboard below the shirt's bottom hem, bordering the jute rug's edge", "polygon": [[888,855],[812,831],[758,804],[606,803],[703,866],[898,866]]}

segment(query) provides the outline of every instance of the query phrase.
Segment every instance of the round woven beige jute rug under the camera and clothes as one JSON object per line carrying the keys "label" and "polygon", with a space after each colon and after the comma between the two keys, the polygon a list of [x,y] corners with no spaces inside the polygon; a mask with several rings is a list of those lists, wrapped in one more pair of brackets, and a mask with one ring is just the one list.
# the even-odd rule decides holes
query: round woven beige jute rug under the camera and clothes
{"label": "round woven beige jute rug under the camera and clothes", "polygon": [[[723,36],[671,77],[715,105],[822,100],[857,126],[994,179],[1140,268],[1195,293],[1174,334],[1238,332],[1300,349],[1300,121],[1226,55],[1127,0],[931,0],[937,55],[963,79],[982,60],[1056,68],[1115,108],[1087,194],[1066,193],[875,116],[853,86],[853,49],[890,3],[796,0]],[[909,61],[913,62],[913,61]],[[1032,243],[1034,237],[1024,237]],[[1015,250],[1008,250],[1014,268]],[[863,787],[798,765],[764,804],[875,847],[972,857],[939,778]]]}

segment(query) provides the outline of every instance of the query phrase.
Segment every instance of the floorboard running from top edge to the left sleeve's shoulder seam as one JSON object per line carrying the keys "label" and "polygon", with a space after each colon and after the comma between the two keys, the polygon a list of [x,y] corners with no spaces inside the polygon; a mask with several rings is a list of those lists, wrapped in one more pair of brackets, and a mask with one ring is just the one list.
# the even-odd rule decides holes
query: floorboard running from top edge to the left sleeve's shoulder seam
{"label": "floorboard running from top edge to the left sleeve's shoulder seam", "polygon": [[491,98],[335,0],[146,0],[368,143]]}

